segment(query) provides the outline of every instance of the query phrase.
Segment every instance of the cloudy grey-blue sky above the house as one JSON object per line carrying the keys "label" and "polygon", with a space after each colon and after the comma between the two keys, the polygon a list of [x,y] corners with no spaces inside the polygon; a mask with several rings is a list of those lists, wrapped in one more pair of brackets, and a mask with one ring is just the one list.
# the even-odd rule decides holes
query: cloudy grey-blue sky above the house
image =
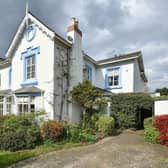
{"label": "cloudy grey-blue sky above the house", "polygon": [[[26,0],[0,1],[0,57],[25,8]],[[149,90],[168,87],[167,0],[29,0],[29,10],[64,38],[76,17],[83,49],[96,60],[142,51]]]}

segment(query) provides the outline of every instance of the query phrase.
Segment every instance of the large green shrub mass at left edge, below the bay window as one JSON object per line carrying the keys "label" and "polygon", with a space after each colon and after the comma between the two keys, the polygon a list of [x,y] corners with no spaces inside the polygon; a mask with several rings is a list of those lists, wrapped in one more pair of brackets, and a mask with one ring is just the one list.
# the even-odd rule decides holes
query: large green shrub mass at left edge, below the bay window
{"label": "large green shrub mass at left edge, below the bay window", "polygon": [[[15,141],[13,134],[16,142],[12,142]],[[32,115],[8,116],[3,121],[1,136],[0,146],[3,150],[32,149],[42,142],[40,128]],[[13,148],[10,144],[13,144]]]}

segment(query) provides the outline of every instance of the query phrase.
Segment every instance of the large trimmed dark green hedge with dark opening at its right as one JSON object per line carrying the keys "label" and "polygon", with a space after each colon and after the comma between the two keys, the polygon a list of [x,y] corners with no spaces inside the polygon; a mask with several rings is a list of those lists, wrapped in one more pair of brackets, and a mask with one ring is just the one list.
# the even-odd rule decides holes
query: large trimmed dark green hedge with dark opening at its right
{"label": "large trimmed dark green hedge with dark opening at its right", "polygon": [[140,128],[140,112],[151,110],[153,99],[146,93],[121,93],[111,96],[111,116],[118,128]]}

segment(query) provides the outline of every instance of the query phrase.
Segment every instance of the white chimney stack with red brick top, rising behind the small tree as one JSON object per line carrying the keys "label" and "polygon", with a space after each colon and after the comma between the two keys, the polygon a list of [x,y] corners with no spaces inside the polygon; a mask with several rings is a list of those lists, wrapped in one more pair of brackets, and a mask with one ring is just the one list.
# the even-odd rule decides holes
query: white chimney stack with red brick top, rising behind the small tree
{"label": "white chimney stack with red brick top, rising behind the small tree", "polygon": [[[79,82],[83,81],[83,53],[82,53],[82,31],[79,29],[79,23],[76,18],[71,19],[71,25],[67,28],[67,38],[72,43],[72,50],[70,55],[70,87],[72,90]],[[69,104],[69,114],[71,121],[78,122],[80,118],[80,108],[78,112],[77,104]]]}

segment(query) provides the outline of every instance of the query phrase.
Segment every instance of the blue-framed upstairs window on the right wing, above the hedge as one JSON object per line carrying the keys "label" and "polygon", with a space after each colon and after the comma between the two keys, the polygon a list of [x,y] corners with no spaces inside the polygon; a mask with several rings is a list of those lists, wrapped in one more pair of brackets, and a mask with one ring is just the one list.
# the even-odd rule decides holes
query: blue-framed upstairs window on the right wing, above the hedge
{"label": "blue-framed upstairs window on the right wing, above the hedge", "polygon": [[119,89],[121,87],[121,67],[107,68],[105,74],[105,88]]}

